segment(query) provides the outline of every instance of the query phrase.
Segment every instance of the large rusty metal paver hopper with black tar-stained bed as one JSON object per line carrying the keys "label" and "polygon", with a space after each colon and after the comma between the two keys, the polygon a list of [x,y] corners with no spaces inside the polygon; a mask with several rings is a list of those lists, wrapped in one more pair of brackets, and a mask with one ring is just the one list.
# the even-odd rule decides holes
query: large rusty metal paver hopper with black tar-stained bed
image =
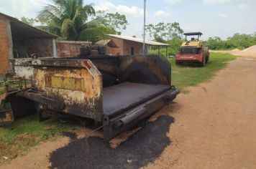
{"label": "large rusty metal paver hopper with black tar-stained bed", "polygon": [[32,100],[40,120],[95,120],[104,126],[106,141],[150,117],[179,92],[171,85],[170,63],[155,55],[16,59],[13,67],[18,77],[33,79],[33,87],[16,96]]}

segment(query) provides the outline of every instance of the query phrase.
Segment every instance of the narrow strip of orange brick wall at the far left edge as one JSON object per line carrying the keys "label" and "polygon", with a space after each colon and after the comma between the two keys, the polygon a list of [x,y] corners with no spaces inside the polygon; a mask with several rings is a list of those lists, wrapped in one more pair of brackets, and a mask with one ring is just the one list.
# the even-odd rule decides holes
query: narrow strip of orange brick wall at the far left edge
{"label": "narrow strip of orange brick wall at the far left edge", "polygon": [[0,76],[9,69],[8,19],[0,16]]}

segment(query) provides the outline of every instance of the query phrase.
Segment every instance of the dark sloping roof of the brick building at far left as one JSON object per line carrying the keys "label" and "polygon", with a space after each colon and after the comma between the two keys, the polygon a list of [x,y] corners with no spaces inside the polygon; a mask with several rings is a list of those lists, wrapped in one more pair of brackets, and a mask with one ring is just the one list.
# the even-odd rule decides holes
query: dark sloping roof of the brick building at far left
{"label": "dark sloping roof of the brick building at far left", "polygon": [[21,34],[27,34],[30,37],[51,37],[51,38],[58,37],[55,34],[51,34],[49,32],[45,32],[29,24],[25,24],[24,22],[19,21],[18,19],[12,16],[8,16],[2,13],[0,13],[0,16],[5,16],[7,19],[9,19],[12,25],[12,30],[14,30],[15,32],[20,32]]}

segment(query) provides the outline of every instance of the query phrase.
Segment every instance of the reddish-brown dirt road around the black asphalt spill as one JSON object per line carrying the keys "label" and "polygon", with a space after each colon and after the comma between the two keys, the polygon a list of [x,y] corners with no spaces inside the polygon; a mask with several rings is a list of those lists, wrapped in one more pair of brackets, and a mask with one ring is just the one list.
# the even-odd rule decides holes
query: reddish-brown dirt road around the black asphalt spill
{"label": "reddish-brown dirt road around the black asphalt spill", "polygon": [[[237,59],[211,82],[189,90],[152,117],[170,115],[175,122],[166,134],[170,145],[145,168],[256,168],[256,60]],[[0,168],[47,168],[49,153],[60,145],[44,143]]]}

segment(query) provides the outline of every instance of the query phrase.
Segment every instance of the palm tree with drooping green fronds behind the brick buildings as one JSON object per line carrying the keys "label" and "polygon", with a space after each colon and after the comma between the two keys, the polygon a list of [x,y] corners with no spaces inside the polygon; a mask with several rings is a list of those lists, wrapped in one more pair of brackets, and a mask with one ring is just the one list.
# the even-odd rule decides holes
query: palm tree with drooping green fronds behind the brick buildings
{"label": "palm tree with drooping green fronds behind the brick buildings", "polygon": [[44,23],[43,26],[39,26],[40,29],[66,40],[85,40],[92,32],[96,34],[96,26],[88,22],[88,17],[95,15],[92,4],[83,6],[83,0],[52,2],[53,4],[44,6],[37,16],[37,19]]}

